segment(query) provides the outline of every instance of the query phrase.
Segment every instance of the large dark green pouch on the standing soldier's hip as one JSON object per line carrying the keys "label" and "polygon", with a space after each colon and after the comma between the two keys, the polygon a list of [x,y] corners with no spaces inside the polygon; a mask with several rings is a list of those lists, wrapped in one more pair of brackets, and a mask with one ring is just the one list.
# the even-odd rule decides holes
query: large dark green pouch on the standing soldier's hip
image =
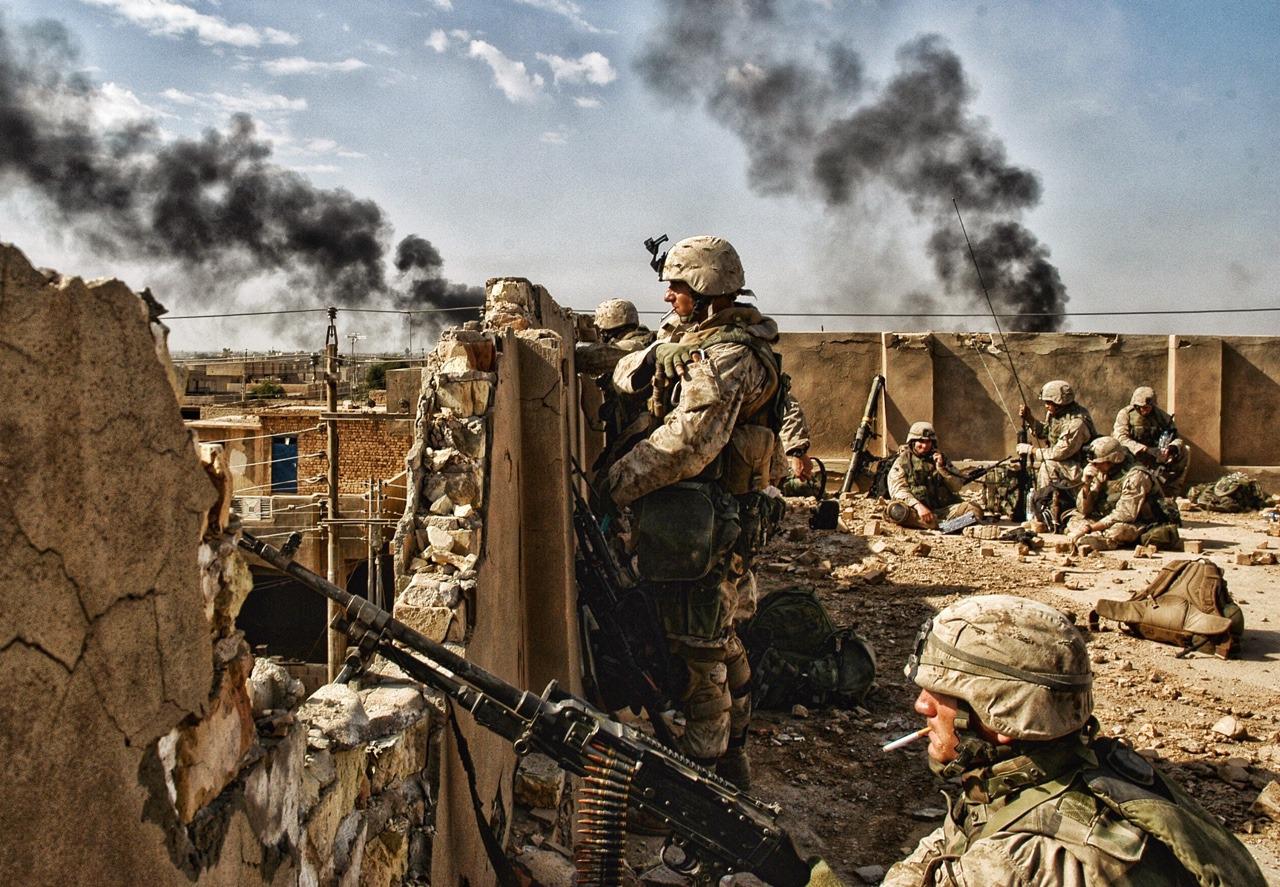
{"label": "large dark green pouch on the standing soldier's hip", "polygon": [[680,481],[640,497],[634,538],[640,575],[650,582],[704,579],[742,531],[737,502],[714,481]]}

